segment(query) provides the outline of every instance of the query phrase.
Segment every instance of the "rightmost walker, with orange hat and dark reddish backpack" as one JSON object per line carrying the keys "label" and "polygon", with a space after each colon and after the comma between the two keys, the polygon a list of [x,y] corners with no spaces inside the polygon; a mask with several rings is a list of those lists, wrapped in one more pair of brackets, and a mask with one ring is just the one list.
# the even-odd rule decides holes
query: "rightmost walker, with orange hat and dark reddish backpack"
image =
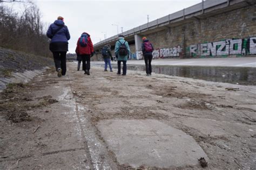
{"label": "rightmost walker, with orange hat and dark reddish backpack", "polygon": [[143,53],[145,65],[146,65],[146,74],[147,76],[150,76],[152,73],[151,61],[153,58],[152,52],[154,48],[151,42],[146,37],[143,37],[142,40],[143,40],[142,53]]}

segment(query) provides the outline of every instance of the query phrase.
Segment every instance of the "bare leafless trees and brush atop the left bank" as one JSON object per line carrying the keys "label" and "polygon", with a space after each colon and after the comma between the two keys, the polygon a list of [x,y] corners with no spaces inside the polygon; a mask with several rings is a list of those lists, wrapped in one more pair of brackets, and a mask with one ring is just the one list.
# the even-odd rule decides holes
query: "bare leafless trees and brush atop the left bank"
{"label": "bare leafless trees and brush atop the left bank", "polygon": [[22,13],[0,5],[0,46],[36,55],[49,56],[49,39],[44,33],[42,16],[33,3]]}

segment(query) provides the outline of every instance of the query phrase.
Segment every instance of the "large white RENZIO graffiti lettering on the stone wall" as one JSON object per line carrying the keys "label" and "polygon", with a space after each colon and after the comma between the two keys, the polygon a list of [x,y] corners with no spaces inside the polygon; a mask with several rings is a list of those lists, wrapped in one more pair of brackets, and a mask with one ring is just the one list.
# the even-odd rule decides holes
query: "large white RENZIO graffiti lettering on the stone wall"
{"label": "large white RENZIO graffiti lettering on the stone wall", "polygon": [[226,39],[218,42],[190,45],[190,56],[227,56],[256,54],[256,37]]}

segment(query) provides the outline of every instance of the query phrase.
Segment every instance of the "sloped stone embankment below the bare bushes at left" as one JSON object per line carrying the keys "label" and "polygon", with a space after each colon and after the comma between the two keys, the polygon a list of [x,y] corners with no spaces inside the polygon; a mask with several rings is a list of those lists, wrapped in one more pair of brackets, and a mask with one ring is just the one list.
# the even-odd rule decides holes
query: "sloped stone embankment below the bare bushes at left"
{"label": "sloped stone embankment below the bare bushes at left", "polygon": [[0,90],[8,83],[26,83],[52,65],[51,58],[0,47]]}

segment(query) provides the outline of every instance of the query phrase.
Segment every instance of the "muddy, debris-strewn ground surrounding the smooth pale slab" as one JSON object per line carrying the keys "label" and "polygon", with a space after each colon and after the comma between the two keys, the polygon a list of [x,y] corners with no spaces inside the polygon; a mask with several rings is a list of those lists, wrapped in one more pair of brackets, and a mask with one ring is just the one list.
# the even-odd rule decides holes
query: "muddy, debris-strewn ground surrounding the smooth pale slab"
{"label": "muddy, debris-strewn ground surrounding the smooth pale slab", "polygon": [[126,169],[96,126],[113,118],[157,119],[186,132],[210,159],[207,169],[255,169],[255,86],[68,67],[64,77],[49,69],[3,91],[0,169]]}

